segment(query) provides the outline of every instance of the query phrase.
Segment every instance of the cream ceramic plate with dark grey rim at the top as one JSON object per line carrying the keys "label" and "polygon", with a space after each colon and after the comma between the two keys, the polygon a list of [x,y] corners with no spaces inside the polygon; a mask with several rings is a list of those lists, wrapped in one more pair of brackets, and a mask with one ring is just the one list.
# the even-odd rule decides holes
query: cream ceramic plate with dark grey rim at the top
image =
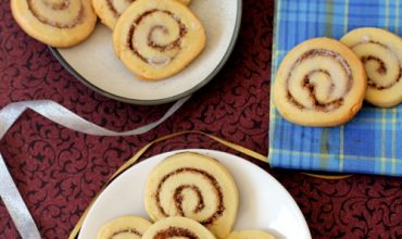
{"label": "cream ceramic plate with dark grey rim at the top", "polygon": [[112,32],[100,23],[83,43],[51,51],[76,78],[106,97],[136,104],[171,102],[192,93],[216,75],[240,27],[241,0],[192,0],[189,7],[204,25],[205,49],[187,68],[164,80],[139,80],[126,70],[113,52]]}

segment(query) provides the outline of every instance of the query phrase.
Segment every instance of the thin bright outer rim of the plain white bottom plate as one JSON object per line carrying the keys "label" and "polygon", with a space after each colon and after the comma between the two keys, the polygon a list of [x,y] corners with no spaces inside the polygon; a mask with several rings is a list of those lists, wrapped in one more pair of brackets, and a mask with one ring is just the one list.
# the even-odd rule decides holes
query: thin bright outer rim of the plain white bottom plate
{"label": "thin bright outer rim of the plain white bottom plate", "polygon": [[[149,162],[150,159],[153,159],[153,158],[161,158],[163,155],[172,155],[172,154],[175,154],[175,153],[180,153],[180,152],[198,152],[198,153],[202,153],[204,155],[209,155],[211,156],[211,154],[214,154],[214,153],[217,153],[217,154],[226,154],[227,156],[234,156],[236,158],[236,160],[239,160],[241,161],[242,163],[244,164],[248,164],[250,167],[256,169],[256,171],[261,171],[267,178],[269,178],[275,187],[278,187],[282,193],[286,194],[286,197],[288,198],[289,202],[291,203],[291,205],[289,205],[290,207],[292,209],[296,209],[294,213],[298,214],[298,216],[300,218],[302,218],[302,221],[300,222],[304,229],[306,230],[306,236],[309,236],[307,238],[312,238],[312,235],[311,235],[311,231],[310,231],[310,227],[307,225],[307,222],[306,222],[306,218],[304,216],[304,214],[302,213],[300,206],[298,205],[298,203],[296,202],[294,198],[290,194],[290,192],[288,191],[288,189],[285,188],[284,185],[281,185],[272,174],[269,174],[268,172],[264,171],[263,168],[261,168],[260,166],[257,166],[256,164],[246,160],[242,156],[239,156],[239,155],[236,155],[236,154],[233,154],[233,153],[229,153],[229,152],[225,152],[225,151],[221,151],[221,150],[213,150],[213,149],[200,149],[200,148],[189,148],[189,149],[179,149],[179,150],[171,150],[171,151],[166,151],[166,152],[161,152],[161,153],[156,153],[154,155],[150,155],[148,158],[146,158],[146,160],[143,161],[140,161],[136,164],[133,164],[131,166],[127,167],[125,171],[123,171],[122,173],[120,173],[99,194],[98,197],[96,198],[96,200],[91,203],[91,205],[89,205],[90,207],[88,209],[88,213],[86,215],[86,218],[84,218],[83,221],[83,224],[81,224],[81,227],[79,228],[79,232],[77,235],[77,238],[80,238],[80,230],[84,228],[84,225],[86,225],[86,222],[87,222],[87,217],[88,215],[91,214],[92,210],[93,210],[93,205],[96,204],[96,202],[99,200],[99,198],[101,198],[101,196],[104,193],[104,191],[112,185],[112,184],[116,184],[115,180],[118,179],[118,177],[121,177],[122,175],[128,173],[130,169],[134,168],[134,166],[138,165],[138,164],[146,164],[147,162]],[[160,159],[160,160],[163,160],[163,159]]]}

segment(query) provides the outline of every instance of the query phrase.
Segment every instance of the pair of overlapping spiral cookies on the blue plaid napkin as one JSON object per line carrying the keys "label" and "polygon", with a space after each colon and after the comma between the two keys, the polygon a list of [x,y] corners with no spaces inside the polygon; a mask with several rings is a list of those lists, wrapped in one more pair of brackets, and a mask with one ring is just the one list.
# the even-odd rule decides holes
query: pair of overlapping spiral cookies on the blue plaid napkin
{"label": "pair of overlapping spiral cookies on the blue plaid napkin", "polygon": [[274,103],[289,122],[335,126],[350,121],[363,100],[391,108],[402,102],[402,39],[378,28],[359,28],[340,41],[314,38],[282,60]]}

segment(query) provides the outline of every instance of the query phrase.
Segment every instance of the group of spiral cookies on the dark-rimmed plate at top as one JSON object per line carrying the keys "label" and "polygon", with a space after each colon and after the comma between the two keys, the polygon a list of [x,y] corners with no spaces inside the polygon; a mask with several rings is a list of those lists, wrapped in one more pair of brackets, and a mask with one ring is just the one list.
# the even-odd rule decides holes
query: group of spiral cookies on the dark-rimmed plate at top
{"label": "group of spiral cookies on the dark-rimmed plate at top", "polygon": [[140,79],[156,80],[183,71],[205,46],[204,27],[187,7],[189,3],[190,0],[12,0],[11,9],[28,35],[58,48],[88,38],[98,15],[113,30],[113,47],[124,65]]}

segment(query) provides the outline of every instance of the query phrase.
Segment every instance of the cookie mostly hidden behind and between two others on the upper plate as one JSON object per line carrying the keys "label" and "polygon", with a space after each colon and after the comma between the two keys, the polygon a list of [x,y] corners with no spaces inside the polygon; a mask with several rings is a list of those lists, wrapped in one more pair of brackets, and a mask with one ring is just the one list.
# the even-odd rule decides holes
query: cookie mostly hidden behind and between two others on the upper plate
{"label": "cookie mostly hidden behind and between two others on the upper plate", "polygon": [[[113,29],[117,18],[135,0],[92,0],[95,12],[104,25]],[[178,0],[189,4],[190,0]]]}

